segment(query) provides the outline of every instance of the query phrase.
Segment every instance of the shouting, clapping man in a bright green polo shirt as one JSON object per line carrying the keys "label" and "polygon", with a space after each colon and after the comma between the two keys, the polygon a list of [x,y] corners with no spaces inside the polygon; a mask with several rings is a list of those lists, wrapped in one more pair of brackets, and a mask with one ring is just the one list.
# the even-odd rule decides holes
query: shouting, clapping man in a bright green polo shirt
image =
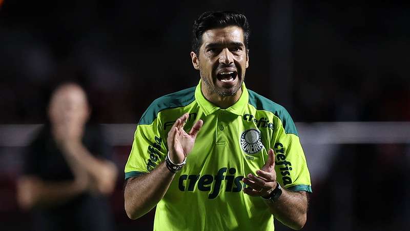
{"label": "shouting, clapping man in a bright green polo shirt", "polygon": [[193,33],[200,82],[142,115],[125,168],[128,216],[156,205],[155,230],[273,230],[273,217],[302,228],[309,171],[289,113],[243,83],[247,18],[206,12]]}

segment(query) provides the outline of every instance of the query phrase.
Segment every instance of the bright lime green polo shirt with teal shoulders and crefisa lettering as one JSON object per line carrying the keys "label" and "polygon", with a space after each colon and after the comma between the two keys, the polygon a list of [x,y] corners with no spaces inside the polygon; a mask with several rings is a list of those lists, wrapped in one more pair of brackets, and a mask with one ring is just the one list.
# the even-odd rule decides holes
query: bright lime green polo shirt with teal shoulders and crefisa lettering
{"label": "bright lime green polo shirt with teal shoulders and crefisa lettering", "polygon": [[[189,113],[188,132],[199,119],[203,126],[166,195],[157,204],[154,230],[273,230],[273,215],[260,197],[244,194],[241,181],[255,174],[274,148],[279,184],[312,192],[298,132],[282,106],[247,90],[221,109],[195,87],[156,99],[139,121],[125,167],[126,179],[153,170],[165,160],[168,131]],[[138,197],[138,195],[135,195]]]}

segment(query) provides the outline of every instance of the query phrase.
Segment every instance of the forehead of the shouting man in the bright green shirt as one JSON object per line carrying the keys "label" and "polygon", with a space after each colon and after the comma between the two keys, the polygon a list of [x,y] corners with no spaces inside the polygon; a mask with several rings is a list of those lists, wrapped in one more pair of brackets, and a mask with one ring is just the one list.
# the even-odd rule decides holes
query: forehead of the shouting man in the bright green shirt
{"label": "forehead of the shouting man in the bright green shirt", "polygon": [[228,26],[206,30],[202,34],[202,45],[209,43],[240,42],[243,44],[243,30],[238,26]]}

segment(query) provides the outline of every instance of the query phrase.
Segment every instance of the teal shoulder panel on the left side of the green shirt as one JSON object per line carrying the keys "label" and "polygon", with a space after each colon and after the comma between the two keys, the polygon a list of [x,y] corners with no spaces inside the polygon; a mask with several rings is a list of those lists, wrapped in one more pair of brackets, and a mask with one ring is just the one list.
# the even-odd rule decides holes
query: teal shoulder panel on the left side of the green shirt
{"label": "teal shoulder panel on the left side of the green shirt", "polygon": [[191,87],[185,90],[174,92],[171,94],[164,95],[160,97],[147,108],[147,110],[142,114],[138,125],[141,124],[152,124],[158,115],[158,112],[177,107],[185,107],[195,100],[195,88]]}

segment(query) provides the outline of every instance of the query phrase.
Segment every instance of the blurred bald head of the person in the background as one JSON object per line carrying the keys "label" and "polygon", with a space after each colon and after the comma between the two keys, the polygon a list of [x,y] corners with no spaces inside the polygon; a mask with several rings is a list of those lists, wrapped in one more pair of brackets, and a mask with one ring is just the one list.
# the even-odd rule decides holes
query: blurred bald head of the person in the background
{"label": "blurred bald head of the person in the background", "polygon": [[58,86],[51,95],[48,108],[50,122],[54,125],[77,123],[84,125],[90,115],[87,95],[75,83]]}

